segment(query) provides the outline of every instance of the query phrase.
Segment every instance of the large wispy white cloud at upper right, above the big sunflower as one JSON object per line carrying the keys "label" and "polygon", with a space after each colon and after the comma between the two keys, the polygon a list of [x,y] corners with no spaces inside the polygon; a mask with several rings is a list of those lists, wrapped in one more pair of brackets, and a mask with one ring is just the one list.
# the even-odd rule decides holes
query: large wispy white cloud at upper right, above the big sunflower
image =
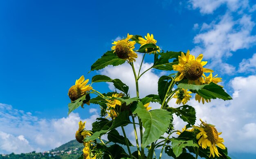
{"label": "large wispy white cloud at upper right, above the big sunflower", "polygon": [[211,68],[216,67],[223,74],[232,74],[236,68],[222,60],[232,56],[231,52],[256,44],[256,35],[251,35],[254,26],[251,15],[243,15],[240,19],[233,20],[226,13],[219,21],[202,24],[200,33],[194,37],[194,43],[198,46],[191,52],[196,55],[203,53],[205,59],[212,61]]}

